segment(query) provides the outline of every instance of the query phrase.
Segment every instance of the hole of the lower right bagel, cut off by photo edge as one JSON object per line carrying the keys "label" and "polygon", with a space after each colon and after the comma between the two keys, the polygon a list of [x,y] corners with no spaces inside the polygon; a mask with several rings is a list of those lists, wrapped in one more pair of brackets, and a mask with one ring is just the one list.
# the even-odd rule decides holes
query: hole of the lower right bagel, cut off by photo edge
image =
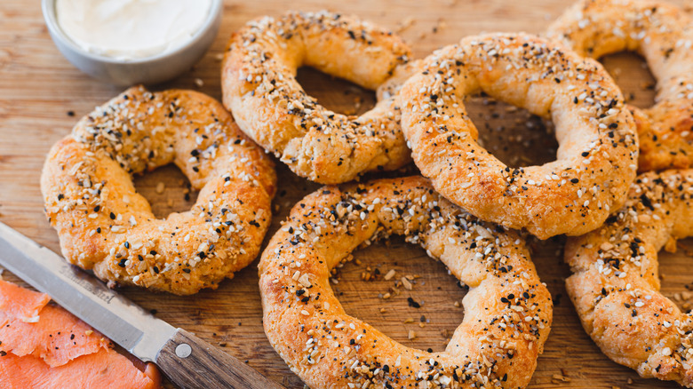
{"label": "hole of the lower right bagel, cut off by photo edge", "polygon": [[693,309],[693,238],[676,242],[676,253],[661,250],[658,254],[661,292],[683,312]]}

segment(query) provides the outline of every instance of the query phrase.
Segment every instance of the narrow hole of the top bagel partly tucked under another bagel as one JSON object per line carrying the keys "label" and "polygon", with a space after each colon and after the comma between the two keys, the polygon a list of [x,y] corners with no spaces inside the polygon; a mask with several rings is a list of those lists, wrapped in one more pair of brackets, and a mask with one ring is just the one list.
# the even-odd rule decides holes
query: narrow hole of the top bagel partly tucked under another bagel
{"label": "narrow hole of the top bagel partly tucked under another bagel", "polygon": [[308,95],[317,99],[318,104],[339,114],[358,116],[375,107],[374,91],[312,67],[300,67],[296,79]]}

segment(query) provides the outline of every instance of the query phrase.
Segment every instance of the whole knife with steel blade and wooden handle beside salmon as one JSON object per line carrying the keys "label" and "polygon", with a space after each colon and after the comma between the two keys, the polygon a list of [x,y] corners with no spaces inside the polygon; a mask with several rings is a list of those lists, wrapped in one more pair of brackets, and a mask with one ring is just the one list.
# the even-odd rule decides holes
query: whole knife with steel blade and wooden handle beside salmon
{"label": "whole knife with steel blade and wooden handle beside salmon", "polygon": [[0,265],[183,389],[282,388],[232,355],[156,319],[95,277],[0,222]]}

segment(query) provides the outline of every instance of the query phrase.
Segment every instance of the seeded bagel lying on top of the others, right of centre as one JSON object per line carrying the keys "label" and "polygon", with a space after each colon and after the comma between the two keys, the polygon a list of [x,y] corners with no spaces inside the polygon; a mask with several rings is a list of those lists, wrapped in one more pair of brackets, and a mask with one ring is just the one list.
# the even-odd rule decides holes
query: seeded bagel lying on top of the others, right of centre
{"label": "seeded bagel lying on top of the others, right of centre", "polygon": [[[470,36],[434,52],[402,86],[402,130],[414,162],[450,201],[478,218],[546,239],[585,234],[619,208],[638,156],[633,116],[594,60],[537,36]],[[476,142],[466,96],[550,117],[557,160],[511,169]]]}

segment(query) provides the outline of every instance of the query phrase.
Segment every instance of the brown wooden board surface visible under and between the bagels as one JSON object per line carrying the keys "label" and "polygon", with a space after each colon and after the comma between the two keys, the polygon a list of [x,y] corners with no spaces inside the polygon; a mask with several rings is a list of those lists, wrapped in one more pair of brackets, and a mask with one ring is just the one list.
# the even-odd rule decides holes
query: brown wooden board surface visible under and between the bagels
{"label": "brown wooden board surface visible under and between the bagels", "polygon": [[[417,57],[434,48],[452,44],[462,36],[482,31],[541,32],[570,1],[527,0],[428,0],[399,2],[363,0],[329,5],[332,11],[351,12],[363,19],[400,30]],[[678,4],[691,2],[681,0]],[[204,59],[174,82],[156,88],[191,88],[220,97],[219,54],[227,36],[251,18],[276,15],[289,7],[302,10],[323,8],[318,1],[227,1],[224,22]],[[52,143],[70,131],[76,120],[116,95],[120,88],[94,81],[65,60],[52,44],[44,26],[38,1],[0,2],[0,220],[52,250],[59,250],[58,238],[47,223],[39,191],[44,155]],[[632,102],[646,107],[652,102],[651,76],[641,61],[619,55],[605,60],[617,82]],[[300,81],[326,106],[345,113],[362,112],[372,104],[373,95],[349,83],[305,70]],[[202,80],[203,86],[198,86]],[[515,166],[546,162],[554,157],[555,140],[550,125],[514,112],[502,104],[473,99],[470,112],[487,147]],[[278,164],[280,190],[272,231],[279,226],[291,206],[317,186],[294,176]],[[409,172],[415,172],[409,169]],[[406,174],[407,171],[396,174]],[[163,182],[163,194],[155,193]],[[164,217],[172,210],[186,210],[185,179],[175,168],[163,168],[136,179],[138,190],[153,203],[155,213]],[[195,199],[195,194],[192,195]],[[271,234],[271,232],[270,232]],[[580,327],[567,298],[563,281],[570,269],[562,263],[562,239],[532,241],[538,272],[551,290],[556,306],[554,326],[539,358],[530,387],[676,387],[657,380],[644,380],[630,369],[609,361]],[[693,289],[693,267],[689,266],[693,240],[680,242],[677,254],[661,256],[660,271],[667,296],[679,293],[689,298]],[[687,254],[688,253],[688,254]],[[339,269],[335,290],[346,312],[359,316],[405,345],[442,350],[448,335],[464,316],[455,305],[465,295],[445,268],[426,258],[423,250],[401,239],[381,242],[354,253],[356,260]],[[179,298],[151,294],[144,290],[123,290],[139,305],[153,310],[159,318],[194,332],[219,345],[242,361],[290,388],[302,383],[267,343],[262,330],[257,262],[223,282],[219,290]],[[412,290],[383,280],[390,269],[418,277]],[[379,275],[378,275],[379,272]],[[370,274],[370,275],[366,275]],[[19,282],[12,274],[4,278]],[[369,278],[368,281],[362,280]],[[386,293],[391,298],[380,298]],[[414,298],[420,308],[410,307]],[[687,305],[684,304],[684,305]],[[410,330],[416,332],[408,339]],[[562,377],[565,377],[564,379]],[[565,381],[565,382],[564,382]]]}

